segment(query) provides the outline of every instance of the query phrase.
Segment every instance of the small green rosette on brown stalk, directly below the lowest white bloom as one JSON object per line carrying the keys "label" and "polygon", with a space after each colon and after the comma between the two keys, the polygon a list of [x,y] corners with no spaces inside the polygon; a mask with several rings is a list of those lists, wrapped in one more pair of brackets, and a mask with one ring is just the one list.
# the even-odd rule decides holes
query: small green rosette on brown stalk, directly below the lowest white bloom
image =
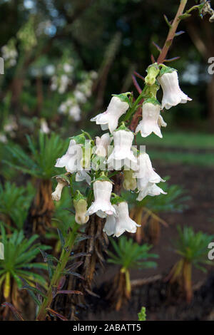
{"label": "small green rosette on brown stalk, directly below the lowest white bloom", "polygon": [[108,299],[112,301],[116,311],[121,309],[131,298],[131,280],[130,269],[147,269],[156,267],[156,262],[149,261],[149,258],[158,258],[158,254],[151,254],[149,251],[151,245],[139,245],[133,242],[133,239],[127,239],[123,236],[118,239],[118,243],[111,238],[115,254],[108,250],[108,263],[121,266],[118,274],[113,279],[113,286],[108,294]]}

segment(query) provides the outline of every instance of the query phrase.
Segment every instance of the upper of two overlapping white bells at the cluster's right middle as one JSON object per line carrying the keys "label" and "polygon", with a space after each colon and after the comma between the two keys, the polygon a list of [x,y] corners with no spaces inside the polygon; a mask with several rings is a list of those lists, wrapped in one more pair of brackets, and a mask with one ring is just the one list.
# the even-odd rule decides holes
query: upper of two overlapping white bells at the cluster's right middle
{"label": "upper of two overlapping white bells at the cluster's right middle", "polygon": [[138,155],[138,170],[134,174],[137,178],[138,190],[144,190],[148,182],[158,183],[164,180],[153,170],[151,160],[147,153],[140,153]]}

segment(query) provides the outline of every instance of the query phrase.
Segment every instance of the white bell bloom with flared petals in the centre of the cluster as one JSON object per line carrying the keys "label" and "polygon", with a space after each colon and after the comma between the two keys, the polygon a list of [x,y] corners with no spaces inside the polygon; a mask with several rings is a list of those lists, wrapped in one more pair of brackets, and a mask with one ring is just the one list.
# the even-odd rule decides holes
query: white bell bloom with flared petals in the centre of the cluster
{"label": "white bell bloom with flared petals in the centre of the cluster", "polygon": [[121,170],[123,166],[136,170],[137,158],[131,150],[133,133],[126,130],[117,130],[113,133],[113,152],[108,157],[108,168]]}

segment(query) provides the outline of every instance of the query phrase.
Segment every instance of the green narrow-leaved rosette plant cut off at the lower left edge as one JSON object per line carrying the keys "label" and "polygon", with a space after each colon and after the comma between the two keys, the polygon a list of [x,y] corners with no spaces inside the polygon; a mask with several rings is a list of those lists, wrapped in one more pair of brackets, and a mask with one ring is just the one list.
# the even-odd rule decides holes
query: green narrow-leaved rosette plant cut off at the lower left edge
{"label": "green narrow-leaved rosette plant cut off at the lower left edge", "polygon": [[[16,309],[24,306],[24,294],[19,289],[23,287],[24,282],[36,289],[36,284],[46,287],[44,273],[46,264],[36,263],[36,255],[41,250],[50,249],[50,247],[35,243],[38,235],[29,239],[24,238],[24,232],[15,230],[13,234],[6,235],[3,225],[1,225],[1,243],[4,244],[4,259],[0,260],[0,295],[1,301],[6,301]],[[36,270],[36,271],[35,271]],[[38,271],[40,273],[38,273]],[[26,286],[26,285],[24,285]],[[31,295],[34,294],[31,292]],[[9,318],[9,308],[6,306],[3,312],[3,318]]]}

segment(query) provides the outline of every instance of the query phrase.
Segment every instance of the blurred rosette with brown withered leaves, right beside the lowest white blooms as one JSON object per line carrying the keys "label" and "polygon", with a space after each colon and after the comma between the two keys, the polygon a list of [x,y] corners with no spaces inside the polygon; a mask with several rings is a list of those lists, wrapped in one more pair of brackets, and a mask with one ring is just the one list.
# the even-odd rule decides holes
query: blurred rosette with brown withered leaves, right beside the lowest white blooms
{"label": "blurred rosette with brown withered leaves, right beside the lowest white blooms", "polygon": [[[168,179],[167,177],[165,179]],[[128,193],[128,202],[133,205],[131,218],[141,225],[137,228],[136,241],[141,244],[144,240],[148,243],[157,244],[160,239],[161,225],[168,227],[168,222],[161,218],[161,212],[183,212],[188,205],[185,204],[190,197],[185,195],[185,190],[178,185],[161,186],[168,190],[167,195],[159,197],[146,197],[141,202],[134,201],[133,193]]]}

